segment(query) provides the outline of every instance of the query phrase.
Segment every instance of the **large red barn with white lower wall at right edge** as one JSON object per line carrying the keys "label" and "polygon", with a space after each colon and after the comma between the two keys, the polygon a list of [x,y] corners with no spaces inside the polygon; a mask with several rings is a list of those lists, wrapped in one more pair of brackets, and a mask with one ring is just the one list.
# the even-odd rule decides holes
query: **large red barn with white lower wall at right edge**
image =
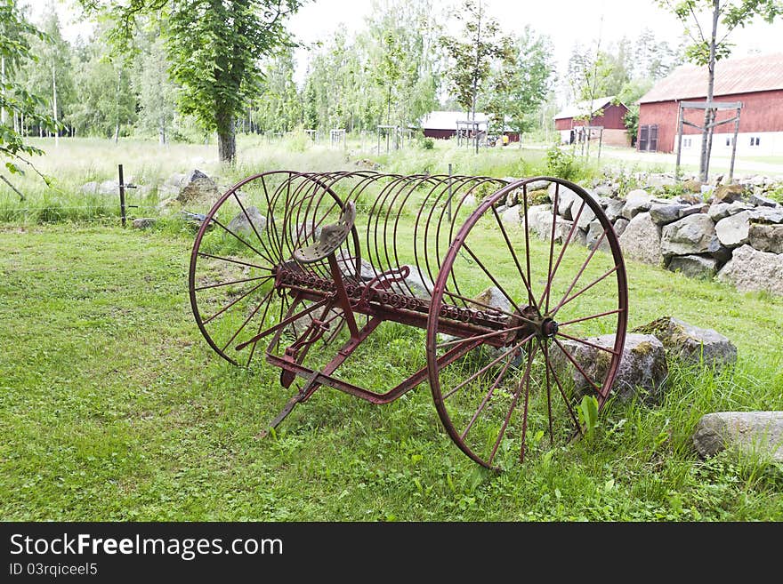
{"label": "large red barn with white lower wall at right edge", "polygon": [[[684,65],[644,94],[639,100],[637,148],[674,152],[677,148],[677,112],[680,101],[706,100],[707,69]],[[715,64],[715,101],[741,101],[737,154],[783,155],[783,53],[719,60]],[[736,115],[719,110],[718,120]],[[685,109],[683,119],[704,124],[704,110]],[[713,134],[713,154],[731,155],[734,123],[718,125]],[[701,131],[682,127],[682,153],[698,154]]]}

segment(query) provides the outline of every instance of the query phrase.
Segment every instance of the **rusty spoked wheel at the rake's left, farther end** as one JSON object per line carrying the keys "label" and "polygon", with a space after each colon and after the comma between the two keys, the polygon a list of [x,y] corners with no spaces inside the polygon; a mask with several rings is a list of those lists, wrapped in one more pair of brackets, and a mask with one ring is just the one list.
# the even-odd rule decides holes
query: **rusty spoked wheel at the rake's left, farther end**
{"label": "rusty spoked wheel at the rake's left, farther end", "polygon": [[[321,228],[342,212],[328,176],[269,172],[239,182],[206,213],[190,256],[190,306],[218,355],[231,364],[260,364],[266,350],[301,340],[314,318],[326,323],[319,343],[338,337],[341,310],[296,298],[276,288],[275,281],[284,264],[302,269],[293,252],[317,242]],[[348,278],[358,273],[358,241],[354,229],[338,256]],[[307,269],[311,277],[329,277],[326,260]],[[287,324],[281,327],[283,320]]]}

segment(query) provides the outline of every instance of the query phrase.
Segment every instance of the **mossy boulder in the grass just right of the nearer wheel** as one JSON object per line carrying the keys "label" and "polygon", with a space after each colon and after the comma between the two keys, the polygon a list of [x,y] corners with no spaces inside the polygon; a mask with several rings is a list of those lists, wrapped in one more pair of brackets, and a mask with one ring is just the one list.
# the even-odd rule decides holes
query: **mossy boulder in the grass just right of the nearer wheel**
{"label": "mossy boulder in the grass just right of the nearer wheel", "polygon": [[654,334],[664,344],[666,355],[689,363],[720,368],[737,362],[737,348],[713,329],[702,329],[678,318],[665,316],[634,329]]}

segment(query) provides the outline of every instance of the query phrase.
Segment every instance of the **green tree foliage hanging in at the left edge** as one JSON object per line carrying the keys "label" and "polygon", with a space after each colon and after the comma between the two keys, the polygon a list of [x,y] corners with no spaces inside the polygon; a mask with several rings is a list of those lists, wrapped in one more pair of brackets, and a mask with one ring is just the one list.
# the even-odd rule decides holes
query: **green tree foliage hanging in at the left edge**
{"label": "green tree foliage hanging in at the left edge", "polygon": [[[26,59],[33,59],[30,52],[29,38],[44,38],[44,34],[30,25],[21,15],[14,0],[0,0],[0,57],[3,60],[4,78],[0,83],[0,110],[6,112],[6,116],[27,117],[28,120],[48,129],[57,128],[52,116],[41,113],[45,102],[34,93],[29,92],[22,84],[11,79],[14,68]],[[40,155],[44,151],[28,144],[24,140],[20,127],[10,127],[0,124],[0,158],[4,158],[5,168],[11,173],[23,173],[19,164],[28,164],[36,170],[23,155]],[[40,173],[48,184],[49,181]],[[21,199],[24,195],[13,187],[12,183],[0,173],[3,180]]]}

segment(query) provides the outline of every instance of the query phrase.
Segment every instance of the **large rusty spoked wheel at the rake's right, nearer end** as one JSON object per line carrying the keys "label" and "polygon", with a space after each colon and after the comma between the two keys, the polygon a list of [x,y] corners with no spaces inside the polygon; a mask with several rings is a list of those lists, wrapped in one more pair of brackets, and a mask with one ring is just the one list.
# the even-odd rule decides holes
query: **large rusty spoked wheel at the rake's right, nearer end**
{"label": "large rusty spoked wheel at the rake's right, nearer end", "polygon": [[[497,469],[580,433],[585,396],[599,410],[609,399],[627,309],[618,238],[583,188],[542,177],[489,196],[456,233],[432,295],[429,379],[448,435]],[[476,313],[494,328],[455,336],[449,319]]]}

